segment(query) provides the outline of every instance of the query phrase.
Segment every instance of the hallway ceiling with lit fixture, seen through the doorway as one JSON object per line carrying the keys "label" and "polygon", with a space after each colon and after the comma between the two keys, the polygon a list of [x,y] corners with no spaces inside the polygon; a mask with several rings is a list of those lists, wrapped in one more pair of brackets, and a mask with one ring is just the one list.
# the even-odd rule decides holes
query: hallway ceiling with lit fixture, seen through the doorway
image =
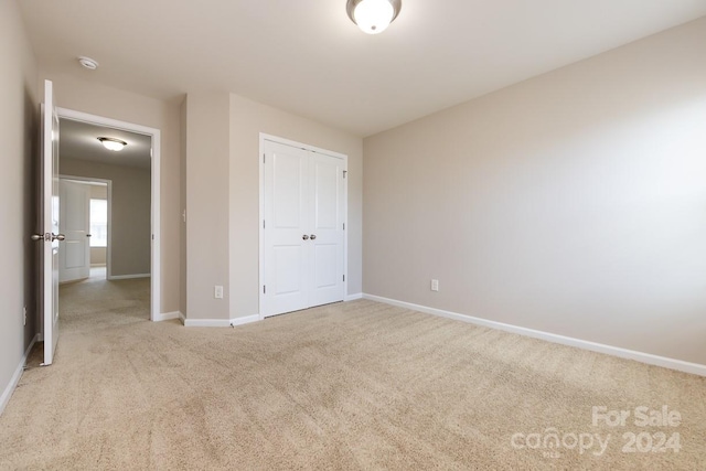
{"label": "hallway ceiling with lit fixture, seen through the doorway", "polygon": [[[106,149],[99,137],[121,139],[128,144],[121,151]],[[87,122],[61,119],[58,126],[58,154],[62,158],[88,160],[111,165],[150,169],[152,137],[89,125]],[[61,162],[60,162],[61,171]]]}

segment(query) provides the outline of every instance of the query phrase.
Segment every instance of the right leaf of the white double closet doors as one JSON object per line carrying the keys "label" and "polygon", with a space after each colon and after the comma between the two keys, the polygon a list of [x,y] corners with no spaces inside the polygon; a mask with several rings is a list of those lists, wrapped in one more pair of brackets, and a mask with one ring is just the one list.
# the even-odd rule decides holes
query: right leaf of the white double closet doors
{"label": "right leaf of the white double closet doors", "polygon": [[341,159],[311,153],[310,306],[343,300],[343,170]]}

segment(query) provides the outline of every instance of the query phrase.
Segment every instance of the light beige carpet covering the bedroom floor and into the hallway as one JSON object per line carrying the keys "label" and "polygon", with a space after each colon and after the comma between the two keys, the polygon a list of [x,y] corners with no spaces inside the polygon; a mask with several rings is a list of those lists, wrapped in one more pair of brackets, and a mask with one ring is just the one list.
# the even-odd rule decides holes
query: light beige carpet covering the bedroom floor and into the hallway
{"label": "light beige carpet covering the bedroom floor and into the hallway", "polygon": [[[366,300],[151,323],[147,282],[62,288],[56,363],[22,376],[0,468],[706,469],[706,378]],[[593,426],[593,406],[631,416]],[[637,426],[640,406],[681,422]],[[651,451],[661,432],[678,452]]]}

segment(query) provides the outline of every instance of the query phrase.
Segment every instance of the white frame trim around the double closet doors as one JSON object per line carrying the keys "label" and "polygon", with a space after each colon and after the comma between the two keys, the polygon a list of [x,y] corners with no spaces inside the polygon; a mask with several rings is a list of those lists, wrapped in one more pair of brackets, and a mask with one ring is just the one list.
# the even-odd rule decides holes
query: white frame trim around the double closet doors
{"label": "white frame trim around the double closet doors", "polygon": [[[259,189],[259,285],[257,287],[259,296],[258,296],[258,318],[259,320],[265,319],[265,312],[263,311],[263,303],[265,293],[263,292],[263,287],[265,286],[265,229],[264,229],[264,221],[265,221],[265,141],[271,141],[281,143],[285,146],[297,147],[299,149],[309,150],[317,153],[323,153],[324,156],[335,157],[336,159],[343,159],[345,162],[345,168],[347,169],[349,157],[344,153],[334,152],[327,149],[321,149],[314,146],[309,146],[306,143],[292,141],[289,139],[280,138],[277,136],[267,135],[265,132],[260,132],[260,146],[259,146],[259,179],[260,179],[260,189]],[[343,231],[343,274],[345,275],[345,281],[343,281],[343,300],[345,301],[349,296],[349,179],[343,179],[343,222],[345,224],[345,231]]]}

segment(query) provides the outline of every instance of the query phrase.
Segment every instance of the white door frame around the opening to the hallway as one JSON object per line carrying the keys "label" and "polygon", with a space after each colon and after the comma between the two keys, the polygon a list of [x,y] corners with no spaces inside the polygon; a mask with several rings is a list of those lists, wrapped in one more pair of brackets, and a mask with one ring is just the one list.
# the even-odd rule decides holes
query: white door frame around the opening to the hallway
{"label": "white door frame around the opening to the hallway", "polygon": [[[150,260],[150,320],[154,321],[160,317],[161,308],[161,246],[160,246],[160,146],[161,132],[159,129],[150,128],[133,122],[119,121],[117,119],[106,118],[87,113],[75,111],[73,109],[56,108],[60,118],[71,119],[73,121],[82,121],[90,125],[106,126],[124,131],[136,132],[138,135],[150,136],[152,138],[152,159],[151,159],[151,225],[152,225],[152,250]],[[61,132],[61,130],[60,130]],[[60,169],[61,170],[61,169]],[[93,179],[98,180],[98,179]],[[110,229],[111,231],[111,229]]]}

